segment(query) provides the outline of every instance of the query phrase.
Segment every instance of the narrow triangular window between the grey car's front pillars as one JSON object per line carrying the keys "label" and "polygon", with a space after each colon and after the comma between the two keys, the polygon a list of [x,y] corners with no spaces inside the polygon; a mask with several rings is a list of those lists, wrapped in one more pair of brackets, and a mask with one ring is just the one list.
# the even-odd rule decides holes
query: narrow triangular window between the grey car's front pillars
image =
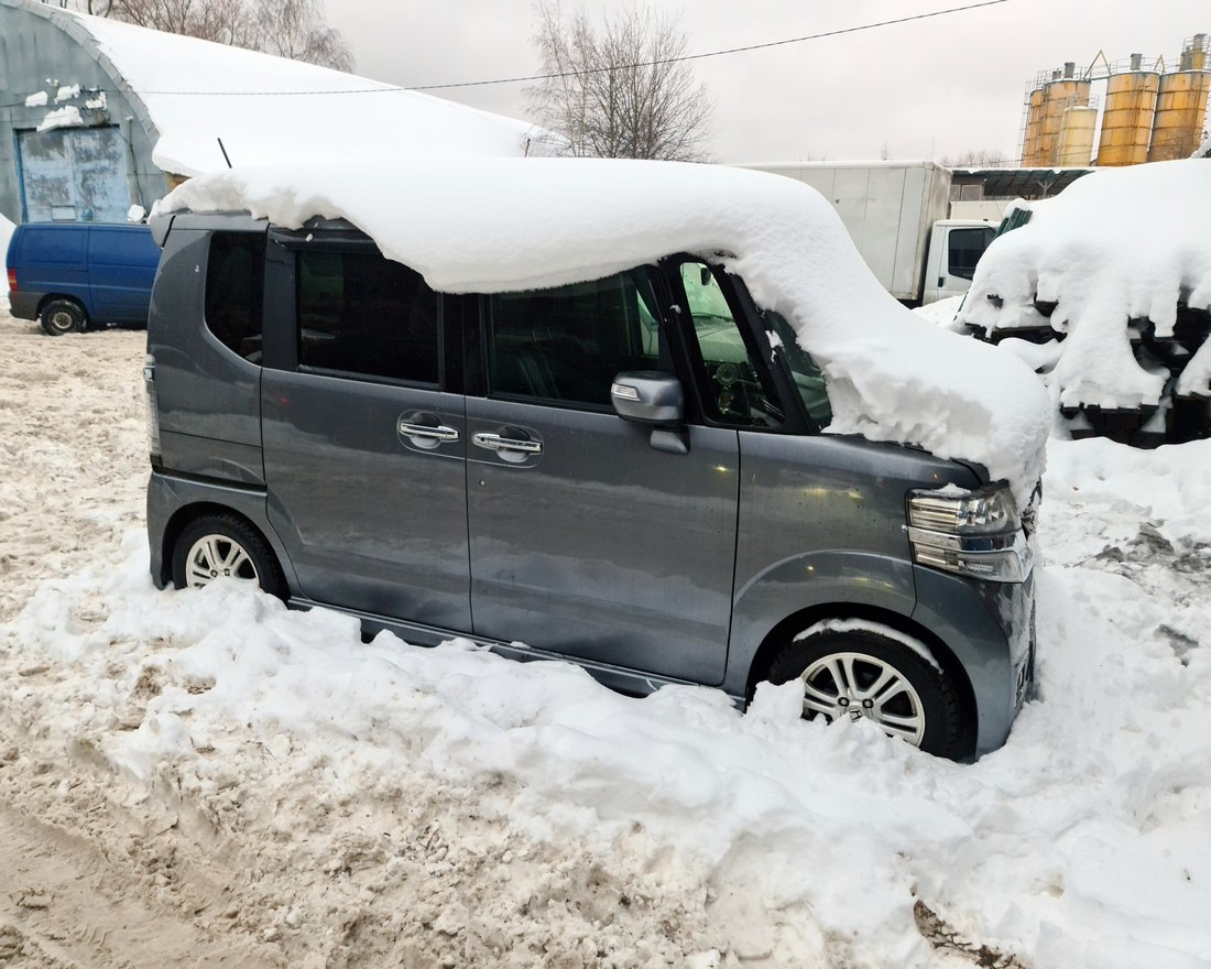
{"label": "narrow triangular window between the grey car's front pillars", "polygon": [[694,321],[693,345],[705,372],[707,415],[741,428],[779,426],[782,408],[769,374],[746,342],[714,273],[705,263],[682,263],[681,282]]}

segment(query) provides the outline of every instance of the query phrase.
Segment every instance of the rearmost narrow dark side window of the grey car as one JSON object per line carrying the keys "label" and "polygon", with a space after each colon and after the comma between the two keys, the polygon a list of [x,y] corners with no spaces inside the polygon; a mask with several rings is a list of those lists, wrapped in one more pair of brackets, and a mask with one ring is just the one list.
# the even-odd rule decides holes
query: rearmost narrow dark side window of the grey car
{"label": "rearmost narrow dark side window of the grey car", "polygon": [[231,352],[260,362],[265,236],[214,233],[206,266],[206,326]]}

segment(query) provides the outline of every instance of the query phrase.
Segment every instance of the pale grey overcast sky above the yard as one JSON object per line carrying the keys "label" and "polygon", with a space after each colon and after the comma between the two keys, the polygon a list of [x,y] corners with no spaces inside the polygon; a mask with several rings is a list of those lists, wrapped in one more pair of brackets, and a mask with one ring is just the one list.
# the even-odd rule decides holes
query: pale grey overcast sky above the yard
{"label": "pale grey overcast sky above the yard", "polygon": [[[367,78],[414,87],[534,74],[530,0],[323,0]],[[690,53],[765,44],[978,0],[650,0],[679,13]],[[563,0],[591,16],[624,0]],[[725,162],[955,156],[1016,164],[1027,85],[1100,51],[1172,64],[1211,33],[1207,0],[1004,0],[843,36],[694,62],[714,102],[712,151]],[[526,117],[523,85],[435,92]],[[1095,97],[1100,93],[1094,88]]]}

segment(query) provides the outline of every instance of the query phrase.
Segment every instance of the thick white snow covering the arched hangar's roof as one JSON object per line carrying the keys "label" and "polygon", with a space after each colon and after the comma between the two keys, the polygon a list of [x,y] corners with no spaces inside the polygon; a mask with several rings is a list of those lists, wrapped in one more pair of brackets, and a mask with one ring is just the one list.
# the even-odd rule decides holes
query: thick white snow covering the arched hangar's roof
{"label": "thick white snow covering the arched hangar's roof", "polygon": [[[69,18],[59,21],[58,18]],[[533,127],[415,91],[271,55],[53,11],[91,36],[160,132],[160,168],[196,176],[385,153],[520,156]],[[74,33],[74,31],[73,31]]]}

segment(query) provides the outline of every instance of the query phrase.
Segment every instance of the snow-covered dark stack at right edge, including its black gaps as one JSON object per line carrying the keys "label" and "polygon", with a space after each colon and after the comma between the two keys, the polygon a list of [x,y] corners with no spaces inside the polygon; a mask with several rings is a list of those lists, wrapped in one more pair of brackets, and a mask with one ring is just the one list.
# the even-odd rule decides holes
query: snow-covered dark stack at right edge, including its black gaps
{"label": "snow-covered dark stack at right edge, including its black gaps", "polygon": [[1211,436],[1211,159],[1018,202],[955,322],[1027,360],[1074,437]]}

